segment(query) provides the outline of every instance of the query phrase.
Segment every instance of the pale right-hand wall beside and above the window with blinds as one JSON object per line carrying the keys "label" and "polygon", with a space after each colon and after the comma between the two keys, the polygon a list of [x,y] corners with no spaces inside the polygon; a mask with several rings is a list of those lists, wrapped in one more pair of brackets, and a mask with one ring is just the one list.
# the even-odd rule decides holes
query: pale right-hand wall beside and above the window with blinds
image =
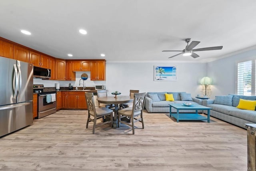
{"label": "pale right-hand wall beside and above the window with blinds", "polygon": [[256,56],[256,50],[248,50],[207,64],[207,75],[212,78],[211,98],[215,95],[235,93],[236,61]]}

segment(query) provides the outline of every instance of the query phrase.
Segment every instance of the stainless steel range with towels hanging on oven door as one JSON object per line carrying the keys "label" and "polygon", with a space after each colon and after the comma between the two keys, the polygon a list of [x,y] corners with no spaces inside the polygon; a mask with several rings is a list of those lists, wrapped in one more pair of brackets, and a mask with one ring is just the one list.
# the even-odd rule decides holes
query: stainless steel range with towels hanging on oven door
{"label": "stainless steel range with towels hanging on oven door", "polygon": [[56,112],[56,91],[44,91],[44,85],[34,84],[34,93],[38,93],[38,116],[36,119]]}

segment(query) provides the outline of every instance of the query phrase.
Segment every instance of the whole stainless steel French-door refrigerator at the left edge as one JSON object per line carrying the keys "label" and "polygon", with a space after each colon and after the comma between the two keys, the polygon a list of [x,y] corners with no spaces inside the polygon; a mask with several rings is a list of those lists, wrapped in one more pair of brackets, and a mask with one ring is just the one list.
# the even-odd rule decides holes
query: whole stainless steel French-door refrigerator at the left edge
{"label": "whole stainless steel French-door refrigerator at the left edge", "polygon": [[0,57],[0,137],[33,123],[33,65]]}

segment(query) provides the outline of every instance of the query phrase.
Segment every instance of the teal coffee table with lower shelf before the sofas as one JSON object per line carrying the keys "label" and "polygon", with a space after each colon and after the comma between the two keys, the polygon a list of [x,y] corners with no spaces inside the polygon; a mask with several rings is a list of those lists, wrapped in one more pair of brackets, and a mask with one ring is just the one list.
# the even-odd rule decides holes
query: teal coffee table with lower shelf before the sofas
{"label": "teal coffee table with lower shelf before the sofas", "polygon": [[[174,117],[177,122],[179,120],[207,120],[210,123],[210,107],[202,106],[202,105],[192,105],[192,106],[185,106],[182,103],[174,103],[170,105],[170,117]],[[172,113],[172,107],[177,109],[177,113]],[[196,110],[196,113],[180,113],[180,110]],[[198,110],[207,110],[207,117],[198,114]]]}

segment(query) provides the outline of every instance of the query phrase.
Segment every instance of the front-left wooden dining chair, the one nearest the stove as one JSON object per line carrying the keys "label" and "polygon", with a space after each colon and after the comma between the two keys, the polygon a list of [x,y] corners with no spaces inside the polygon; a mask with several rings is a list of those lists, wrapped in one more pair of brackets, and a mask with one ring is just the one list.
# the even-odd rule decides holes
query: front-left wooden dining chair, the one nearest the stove
{"label": "front-left wooden dining chair, the one nearest the stove", "polygon": [[[108,109],[106,107],[95,107],[94,100],[93,100],[93,93],[85,93],[86,97],[86,103],[88,108],[88,119],[86,123],[86,128],[88,128],[89,122],[93,122],[93,129],[92,134],[95,133],[96,126],[101,126],[107,123],[110,123],[111,127],[113,125],[113,110]],[[96,125],[97,119],[103,118],[103,117],[110,117],[110,121],[103,120],[102,123],[98,123]]]}

